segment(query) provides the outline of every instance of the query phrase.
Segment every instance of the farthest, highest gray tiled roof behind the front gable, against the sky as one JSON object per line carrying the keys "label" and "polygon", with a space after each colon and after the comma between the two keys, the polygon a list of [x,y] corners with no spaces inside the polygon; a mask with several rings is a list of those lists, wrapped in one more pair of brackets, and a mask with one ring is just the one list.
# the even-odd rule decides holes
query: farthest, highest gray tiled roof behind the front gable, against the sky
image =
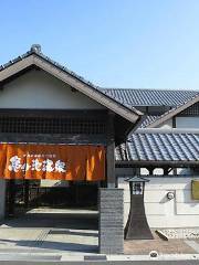
{"label": "farthest, highest gray tiled roof behind the front gable, against the sky", "polygon": [[132,106],[177,106],[189,100],[199,91],[174,91],[174,89],[122,89],[102,88],[106,95],[117,98]]}

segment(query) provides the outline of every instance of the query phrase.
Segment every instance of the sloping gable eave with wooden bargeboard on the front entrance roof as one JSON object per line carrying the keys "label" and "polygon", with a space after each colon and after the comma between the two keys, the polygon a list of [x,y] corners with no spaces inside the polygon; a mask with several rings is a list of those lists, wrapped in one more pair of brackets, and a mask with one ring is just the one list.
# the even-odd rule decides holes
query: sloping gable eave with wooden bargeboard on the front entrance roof
{"label": "sloping gable eave with wooden bargeboard on the front entrance roof", "polygon": [[67,73],[65,67],[62,67],[60,64],[51,63],[46,56],[35,52],[28,52],[25,55],[21,56],[20,60],[10,63],[8,67],[2,68],[0,71],[0,82],[3,82],[20,71],[23,71],[30,65],[36,65],[49,74],[54,75],[56,78],[67,83],[70,86],[76,88],[84,95],[109,108],[133,124],[135,124],[139,116],[143,115],[143,113],[136,108],[130,109],[124,106],[122,103],[116,102],[108,95],[105,95],[103,92],[94,87],[92,83],[85,82],[75,74]]}

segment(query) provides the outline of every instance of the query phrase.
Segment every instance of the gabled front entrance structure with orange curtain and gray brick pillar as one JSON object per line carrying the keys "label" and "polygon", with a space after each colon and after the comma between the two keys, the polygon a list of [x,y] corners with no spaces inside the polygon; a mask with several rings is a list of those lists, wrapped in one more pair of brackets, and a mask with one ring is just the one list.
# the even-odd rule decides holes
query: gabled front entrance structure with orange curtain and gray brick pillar
{"label": "gabled front entrance structure with orange curtain and gray brick pillar", "polygon": [[40,45],[0,66],[0,88],[1,218],[13,213],[20,189],[29,203],[32,183],[95,183],[100,252],[122,253],[123,193],[114,151],[142,113],[52,61]]}

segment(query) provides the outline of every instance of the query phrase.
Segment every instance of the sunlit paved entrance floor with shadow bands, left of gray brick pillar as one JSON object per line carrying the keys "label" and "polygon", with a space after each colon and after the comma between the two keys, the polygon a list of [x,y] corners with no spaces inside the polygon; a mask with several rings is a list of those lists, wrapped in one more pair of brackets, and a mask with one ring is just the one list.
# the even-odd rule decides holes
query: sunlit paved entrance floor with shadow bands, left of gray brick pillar
{"label": "sunlit paved entrance floor with shadow bands, left of gray brick pillar", "polygon": [[95,211],[35,209],[0,225],[0,253],[64,252],[74,255],[97,251]]}

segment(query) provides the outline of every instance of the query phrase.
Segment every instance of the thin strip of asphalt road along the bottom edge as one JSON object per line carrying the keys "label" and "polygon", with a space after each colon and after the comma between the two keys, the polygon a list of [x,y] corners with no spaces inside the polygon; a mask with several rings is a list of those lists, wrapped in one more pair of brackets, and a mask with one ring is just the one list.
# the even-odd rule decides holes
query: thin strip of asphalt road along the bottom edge
{"label": "thin strip of asphalt road along the bottom edge", "polygon": [[199,265],[199,261],[149,261],[149,262],[0,262],[0,265]]}

